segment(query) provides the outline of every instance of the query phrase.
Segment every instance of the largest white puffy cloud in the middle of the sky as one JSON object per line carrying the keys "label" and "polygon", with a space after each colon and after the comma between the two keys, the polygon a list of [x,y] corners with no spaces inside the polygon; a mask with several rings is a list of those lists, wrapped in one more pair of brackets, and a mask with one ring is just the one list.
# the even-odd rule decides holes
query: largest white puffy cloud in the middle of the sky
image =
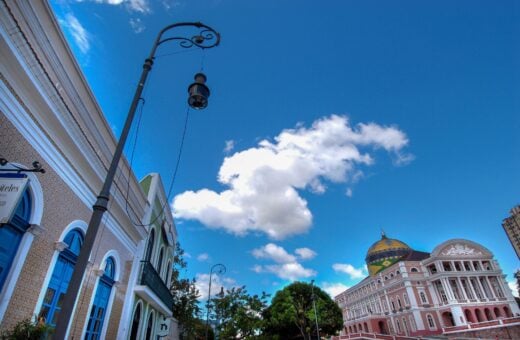
{"label": "largest white puffy cloud in the middle of the sky", "polygon": [[218,180],[228,189],[186,191],[174,198],[173,211],[177,218],[236,235],[262,232],[283,239],[305,233],[312,213],[298,190],[323,193],[324,182],[353,183],[362,176],[360,166],[374,163],[367,150],[383,149],[405,159],[407,144],[396,127],[351,126],[347,117],[331,115],[226,157]]}

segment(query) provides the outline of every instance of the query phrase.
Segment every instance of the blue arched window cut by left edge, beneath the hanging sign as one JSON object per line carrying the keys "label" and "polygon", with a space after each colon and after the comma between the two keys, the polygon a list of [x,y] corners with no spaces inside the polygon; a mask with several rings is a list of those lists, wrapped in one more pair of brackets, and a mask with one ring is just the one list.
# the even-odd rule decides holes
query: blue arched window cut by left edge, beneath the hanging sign
{"label": "blue arched window cut by left edge, beneath the hanging sign", "polygon": [[31,196],[29,190],[25,190],[9,223],[0,227],[0,290],[9,274],[23,234],[29,229],[30,217]]}

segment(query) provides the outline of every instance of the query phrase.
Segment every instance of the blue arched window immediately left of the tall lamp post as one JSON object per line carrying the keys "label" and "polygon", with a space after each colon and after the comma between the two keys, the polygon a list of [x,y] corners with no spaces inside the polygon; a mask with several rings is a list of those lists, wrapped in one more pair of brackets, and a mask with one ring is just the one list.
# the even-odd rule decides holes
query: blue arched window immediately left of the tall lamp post
{"label": "blue arched window immediately left of the tall lamp post", "polygon": [[83,245],[83,234],[79,229],[73,229],[65,236],[63,241],[67,244],[67,248],[60,252],[54,265],[40,310],[40,317],[43,317],[45,322],[52,327],[56,325],[58,320],[63,296],[69,286],[79,251]]}

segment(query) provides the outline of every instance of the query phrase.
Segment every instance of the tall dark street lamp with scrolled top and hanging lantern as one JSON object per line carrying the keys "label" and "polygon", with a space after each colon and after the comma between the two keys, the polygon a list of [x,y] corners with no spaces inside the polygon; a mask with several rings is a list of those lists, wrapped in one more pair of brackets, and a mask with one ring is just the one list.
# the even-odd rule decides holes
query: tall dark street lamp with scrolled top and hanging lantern
{"label": "tall dark street lamp with scrolled top and hanging lantern", "polygon": [[[195,27],[198,30],[198,33],[192,36],[191,38],[186,38],[182,36],[171,36],[163,38],[164,33],[179,27]],[[182,22],[166,26],[157,35],[157,38],[155,39],[155,42],[152,46],[150,55],[144,61],[141,78],[137,83],[137,88],[135,90],[132,103],[130,104],[130,109],[128,110],[125,125],[123,127],[123,131],[121,132],[121,136],[119,137],[119,141],[117,143],[114,156],[110,163],[110,167],[108,169],[105,182],[103,184],[103,188],[101,189],[101,192],[97,197],[96,203],[94,203],[94,206],[92,207],[94,211],[90,218],[88,229],[85,235],[85,241],[83,243],[83,246],[81,247],[78,260],[76,262],[76,265],[74,266],[72,278],[70,279],[67,292],[63,298],[62,309],[54,332],[55,339],[65,339],[67,335],[67,329],[69,326],[70,318],[72,317],[74,304],[79,293],[81,281],[83,280],[83,275],[85,274],[85,270],[87,268],[90,253],[92,251],[92,247],[94,245],[94,241],[96,239],[99,226],[103,218],[103,214],[105,213],[105,211],[107,211],[108,201],[110,197],[110,188],[112,187],[112,183],[114,182],[114,177],[117,171],[119,160],[121,159],[123,148],[125,146],[128,133],[130,132],[130,128],[132,126],[132,121],[135,116],[137,105],[139,103],[139,100],[141,99],[141,93],[143,92],[146,78],[148,77],[148,73],[152,69],[152,65],[155,58],[155,51],[157,50],[159,45],[167,41],[177,41],[179,43],[179,46],[183,48],[198,47],[201,49],[206,49],[215,47],[220,43],[220,34],[213,28],[206,26],[200,22]],[[195,79],[195,83],[192,84],[188,89],[190,95],[188,103],[194,109],[203,109],[207,106],[207,97],[209,96],[209,89],[205,85],[206,77],[203,74],[197,74],[197,76]]]}

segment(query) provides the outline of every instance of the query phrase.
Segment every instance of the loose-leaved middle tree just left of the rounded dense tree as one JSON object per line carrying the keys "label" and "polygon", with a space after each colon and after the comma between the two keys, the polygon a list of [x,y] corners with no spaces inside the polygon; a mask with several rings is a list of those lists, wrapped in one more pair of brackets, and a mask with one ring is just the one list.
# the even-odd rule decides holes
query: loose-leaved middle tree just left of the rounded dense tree
{"label": "loose-leaved middle tree just left of the rounded dense tree", "polygon": [[245,286],[222,290],[211,300],[220,339],[256,339],[262,328],[262,313],[269,295],[249,295]]}

